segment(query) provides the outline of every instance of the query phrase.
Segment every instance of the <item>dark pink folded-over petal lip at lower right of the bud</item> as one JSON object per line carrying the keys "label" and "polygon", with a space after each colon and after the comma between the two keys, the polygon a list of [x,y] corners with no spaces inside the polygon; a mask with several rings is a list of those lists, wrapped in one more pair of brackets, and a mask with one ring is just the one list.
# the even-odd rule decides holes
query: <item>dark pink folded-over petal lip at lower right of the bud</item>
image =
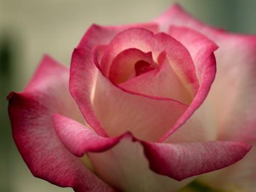
{"label": "dark pink folded-over petal lip at lower right of the bud", "polygon": [[144,147],[150,166],[156,173],[180,181],[236,163],[245,156],[251,145],[225,141],[147,142]]}

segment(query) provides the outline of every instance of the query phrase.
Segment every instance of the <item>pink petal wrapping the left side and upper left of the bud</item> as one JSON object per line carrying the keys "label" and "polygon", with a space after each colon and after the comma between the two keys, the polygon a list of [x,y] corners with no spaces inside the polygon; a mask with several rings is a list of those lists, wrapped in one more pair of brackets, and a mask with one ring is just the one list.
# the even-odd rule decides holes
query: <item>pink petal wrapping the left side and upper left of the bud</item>
{"label": "pink petal wrapping the left side and upper left of the bud", "polygon": [[93,64],[92,50],[95,45],[109,44],[111,39],[120,31],[131,27],[144,27],[152,31],[158,29],[156,24],[141,24],[133,26],[100,27],[93,25],[83,36],[78,49],[86,51],[86,57],[79,60],[76,53],[72,56],[70,69],[70,92],[76,100],[84,118],[93,129],[102,136],[107,136],[101,123],[95,116],[91,103],[91,93],[95,89],[97,68]]}

